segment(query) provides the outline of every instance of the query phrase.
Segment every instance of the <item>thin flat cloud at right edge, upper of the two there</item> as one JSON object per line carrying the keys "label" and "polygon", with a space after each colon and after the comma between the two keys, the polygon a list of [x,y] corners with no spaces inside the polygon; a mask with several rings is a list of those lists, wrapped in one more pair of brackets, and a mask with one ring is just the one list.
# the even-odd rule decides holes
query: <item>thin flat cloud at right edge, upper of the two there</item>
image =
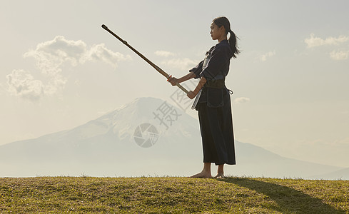
{"label": "thin flat cloud at right edge, upper of the two there", "polygon": [[304,39],[304,42],[308,48],[313,48],[318,46],[337,46],[348,40],[349,36],[338,36],[338,38],[330,36],[326,39],[321,39],[320,37],[315,37],[315,34],[310,34],[310,38]]}

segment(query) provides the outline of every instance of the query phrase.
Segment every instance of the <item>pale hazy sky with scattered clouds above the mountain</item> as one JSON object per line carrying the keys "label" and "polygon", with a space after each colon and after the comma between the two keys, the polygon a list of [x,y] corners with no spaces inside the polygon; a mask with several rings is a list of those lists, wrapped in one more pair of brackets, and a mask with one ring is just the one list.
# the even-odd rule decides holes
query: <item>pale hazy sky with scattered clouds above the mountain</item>
{"label": "pale hazy sky with scattered clouds above the mountain", "polygon": [[[349,1],[0,1],[0,145],[74,128],[176,88],[101,28],[182,76],[227,16],[242,50],[238,141],[349,167]],[[193,89],[193,88],[188,88]],[[196,111],[186,111],[196,117]]]}

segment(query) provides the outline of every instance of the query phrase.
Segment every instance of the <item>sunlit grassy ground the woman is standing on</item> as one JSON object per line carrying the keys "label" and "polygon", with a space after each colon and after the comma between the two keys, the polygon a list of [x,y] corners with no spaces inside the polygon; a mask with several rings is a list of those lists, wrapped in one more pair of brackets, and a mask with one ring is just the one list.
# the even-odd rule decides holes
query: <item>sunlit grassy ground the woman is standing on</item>
{"label": "sunlit grassy ground the woman is standing on", "polygon": [[0,178],[0,213],[349,213],[349,181]]}

